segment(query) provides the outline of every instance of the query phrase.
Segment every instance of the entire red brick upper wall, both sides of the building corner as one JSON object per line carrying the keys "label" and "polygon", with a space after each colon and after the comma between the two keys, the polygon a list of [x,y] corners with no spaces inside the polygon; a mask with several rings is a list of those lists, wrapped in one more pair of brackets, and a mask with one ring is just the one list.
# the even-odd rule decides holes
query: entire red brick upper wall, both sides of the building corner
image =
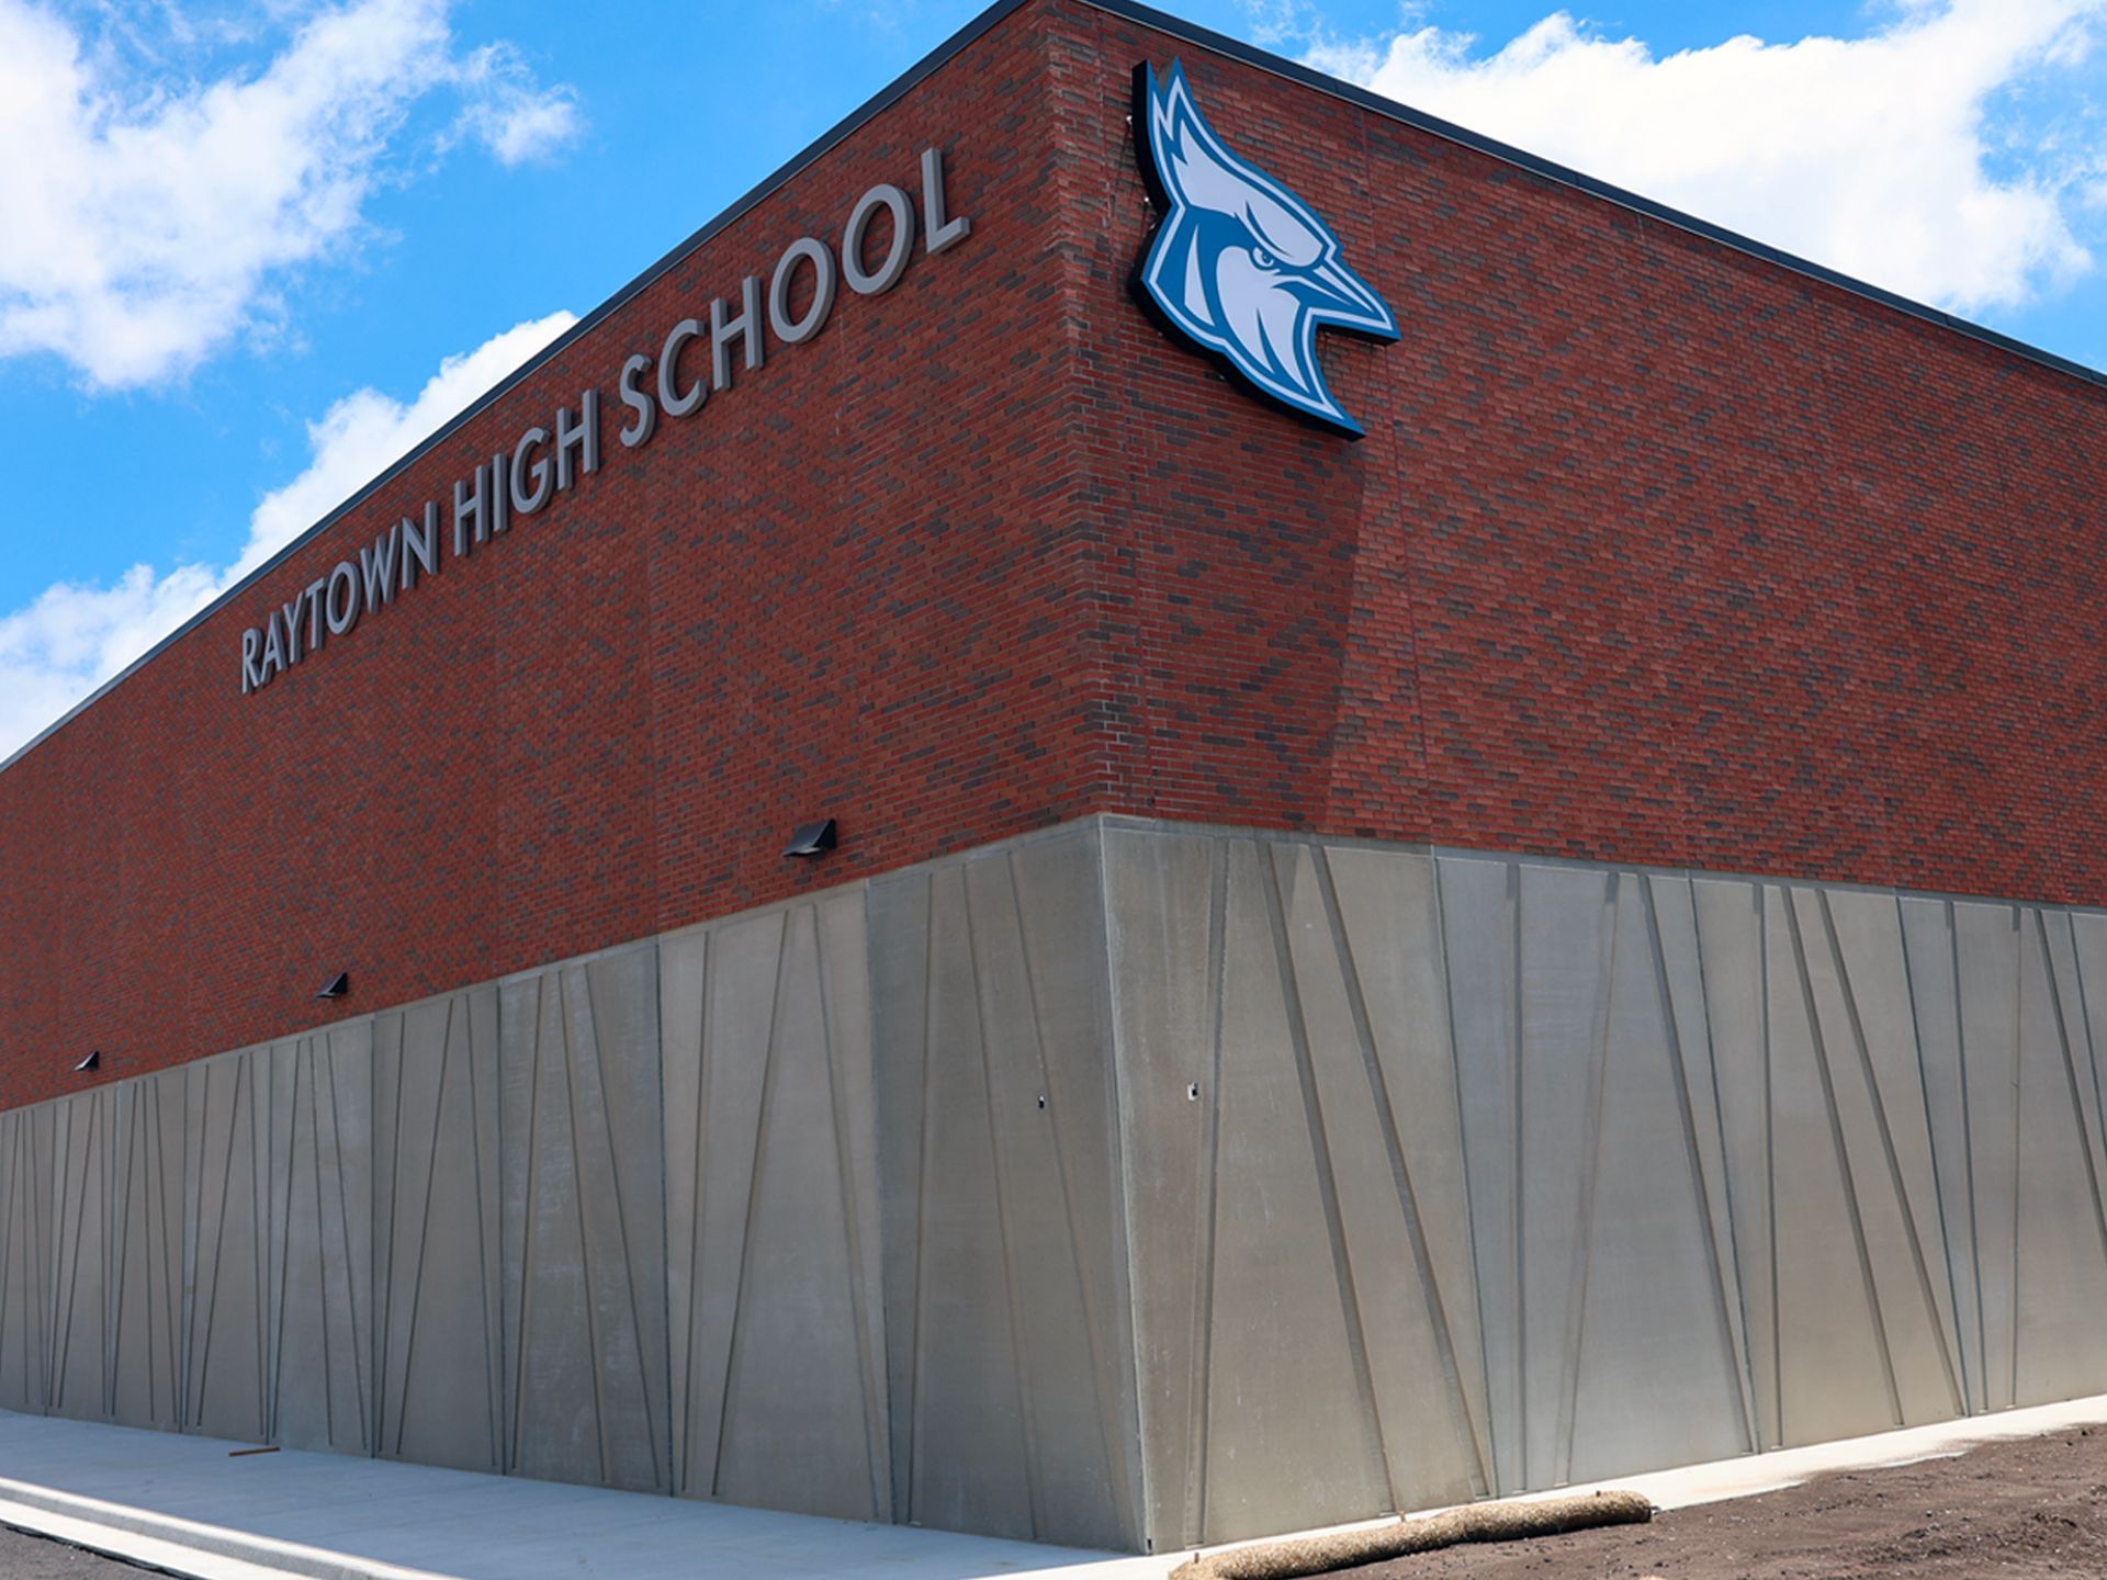
{"label": "entire red brick upper wall, both sides of the building corner", "polygon": [[[1323,345],[1363,442],[1125,295],[1144,55],[1397,310]],[[615,442],[626,354],[927,143],[969,240]],[[596,476],[238,693],[244,626],[586,383]],[[1091,811],[2101,902],[2103,438],[2075,379],[1041,0],[0,773],[0,1104]]]}

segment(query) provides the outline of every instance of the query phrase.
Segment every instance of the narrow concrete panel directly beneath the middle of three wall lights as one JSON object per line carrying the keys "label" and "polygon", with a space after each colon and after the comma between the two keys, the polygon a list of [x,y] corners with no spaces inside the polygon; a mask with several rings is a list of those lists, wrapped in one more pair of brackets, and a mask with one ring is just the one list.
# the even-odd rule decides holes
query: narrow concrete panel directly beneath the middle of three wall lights
{"label": "narrow concrete panel directly beneath the middle of three wall lights", "polygon": [[272,1058],[270,1435],[373,1451],[373,1024]]}

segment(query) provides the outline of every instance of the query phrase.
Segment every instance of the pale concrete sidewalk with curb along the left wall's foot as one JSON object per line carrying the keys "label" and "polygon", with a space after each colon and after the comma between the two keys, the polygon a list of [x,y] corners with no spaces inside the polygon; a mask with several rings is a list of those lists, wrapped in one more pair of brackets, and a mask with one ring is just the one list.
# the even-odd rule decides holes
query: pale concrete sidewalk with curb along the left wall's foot
{"label": "pale concrete sidewalk with curb along the left wall's foot", "polygon": [[1161,1580],[1176,1559],[0,1411],[0,1523],[194,1580]]}

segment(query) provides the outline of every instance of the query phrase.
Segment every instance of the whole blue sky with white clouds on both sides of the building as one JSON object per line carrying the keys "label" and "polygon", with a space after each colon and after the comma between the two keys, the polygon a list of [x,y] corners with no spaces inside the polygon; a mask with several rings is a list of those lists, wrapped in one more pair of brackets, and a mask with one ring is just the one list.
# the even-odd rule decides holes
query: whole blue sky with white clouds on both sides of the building
{"label": "whole blue sky with white clouds on both sides of the building", "polygon": [[[2107,367],[2107,0],[1171,8]],[[0,754],[978,11],[0,0]]]}

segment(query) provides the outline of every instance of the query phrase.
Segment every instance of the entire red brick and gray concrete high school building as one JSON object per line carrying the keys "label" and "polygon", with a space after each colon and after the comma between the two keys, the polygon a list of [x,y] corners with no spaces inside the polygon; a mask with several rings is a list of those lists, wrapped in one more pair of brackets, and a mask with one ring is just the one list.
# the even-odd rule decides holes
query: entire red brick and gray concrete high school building
{"label": "entire red brick and gray concrete high school building", "polygon": [[1176,1548],[2107,1388],[2103,440],[1005,0],[0,771],[0,1407]]}

